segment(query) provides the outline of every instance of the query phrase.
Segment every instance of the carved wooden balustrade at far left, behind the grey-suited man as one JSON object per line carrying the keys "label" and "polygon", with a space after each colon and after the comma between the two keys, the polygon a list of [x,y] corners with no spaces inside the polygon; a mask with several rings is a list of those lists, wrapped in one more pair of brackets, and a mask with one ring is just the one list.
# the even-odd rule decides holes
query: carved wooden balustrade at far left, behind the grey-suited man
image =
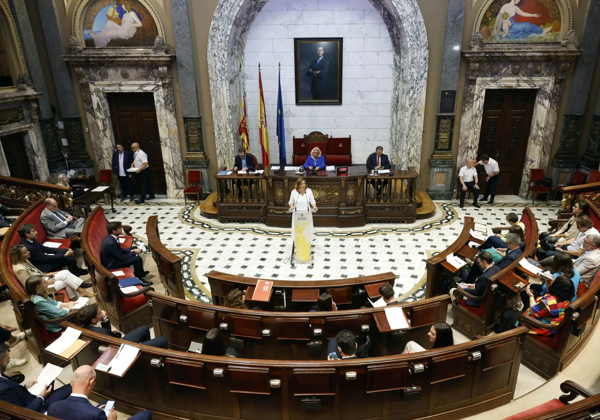
{"label": "carved wooden balustrade at far left, behind the grey-suited man", "polygon": [[61,209],[73,206],[71,187],[11,178],[10,176],[0,176],[0,196],[6,197],[4,202],[8,205],[30,206],[39,199],[50,197],[56,200]]}

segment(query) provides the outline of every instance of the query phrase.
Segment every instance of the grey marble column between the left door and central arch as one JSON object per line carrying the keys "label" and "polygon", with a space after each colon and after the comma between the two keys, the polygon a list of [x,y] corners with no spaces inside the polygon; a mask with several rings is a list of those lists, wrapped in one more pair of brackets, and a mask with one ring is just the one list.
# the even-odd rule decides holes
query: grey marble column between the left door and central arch
{"label": "grey marble column between the left door and central arch", "polygon": [[206,197],[211,192],[209,186],[208,159],[204,152],[202,138],[202,119],[198,106],[198,91],[196,72],[194,70],[194,51],[190,36],[190,13],[188,0],[171,0],[171,15],[173,34],[175,35],[175,50],[177,54],[177,73],[181,89],[181,107],[185,127],[185,145],[187,154],[184,166],[189,169],[202,171],[202,191]]}

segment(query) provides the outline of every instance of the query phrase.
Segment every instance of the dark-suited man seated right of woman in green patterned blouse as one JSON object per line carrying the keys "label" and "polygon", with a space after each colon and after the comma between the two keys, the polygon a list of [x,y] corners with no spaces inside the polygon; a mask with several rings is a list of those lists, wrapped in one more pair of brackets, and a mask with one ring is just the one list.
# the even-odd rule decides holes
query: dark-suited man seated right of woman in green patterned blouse
{"label": "dark-suited man seated right of woman in green patterned blouse", "polygon": [[[110,329],[110,319],[106,316],[105,311],[100,310],[98,304],[88,304],[80,308],[77,311],[77,319],[79,319],[83,328],[89,329],[89,331],[110,335],[110,337],[123,338],[125,341],[143,344],[144,346],[160,347],[161,349],[169,348],[169,342],[166,338],[150,338],[150,330],[146,325],[139,326],[121,337],[120,332],[113,332]],[[98,322],[100,322],[101,326],[96,326]]]}

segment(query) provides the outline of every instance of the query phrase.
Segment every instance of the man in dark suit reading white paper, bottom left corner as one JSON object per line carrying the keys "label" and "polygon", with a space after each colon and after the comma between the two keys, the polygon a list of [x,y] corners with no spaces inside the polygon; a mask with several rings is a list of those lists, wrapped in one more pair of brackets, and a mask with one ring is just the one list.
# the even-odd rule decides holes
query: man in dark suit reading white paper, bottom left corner
{"label": "man in dark suit reading white paper, bottom left corner", "polygon": [[30,380],[23,386],[4,374],[8,361],[10,361],[9,353],[8,345],[0,343],[0,371],[2,372],[0,377],[0,400],[38,413],[45,413],[50,404],[64,400],[71,394],[71,385],[61,386],[61,388],[52,391],[52,383],[43,384],[44,387],[37,397],[31,394],[28,390],[34,386],[37,379]]}

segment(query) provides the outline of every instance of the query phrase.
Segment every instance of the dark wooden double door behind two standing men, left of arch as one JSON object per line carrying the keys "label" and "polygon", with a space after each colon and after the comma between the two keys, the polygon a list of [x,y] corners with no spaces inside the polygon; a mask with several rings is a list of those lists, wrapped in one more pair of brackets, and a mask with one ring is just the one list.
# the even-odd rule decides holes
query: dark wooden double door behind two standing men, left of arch
{"label": "dark wooden double door behind two standing men, left of arch", "polygon": [[[163,151],[158,134],[156,107],[152,93],[107,94],[115,141],[123,143],[125,150],[131,151],[131,143],[139,143],[148,155],[155,194],[167,193],[164,175]],[[139,176],[133,174],[133,191],[140,194],[142,189]]]}

